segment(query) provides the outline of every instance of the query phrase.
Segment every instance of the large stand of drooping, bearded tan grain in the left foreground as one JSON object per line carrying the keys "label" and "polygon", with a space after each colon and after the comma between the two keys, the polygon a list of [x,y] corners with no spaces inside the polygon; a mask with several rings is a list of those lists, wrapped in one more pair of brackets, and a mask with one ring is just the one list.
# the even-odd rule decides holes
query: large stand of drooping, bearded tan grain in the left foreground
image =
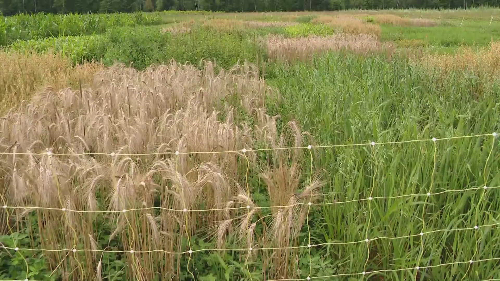
{"label": "large stand of drooping, bearded tan grain in the left foreground", "polygon": [[[261,161],[251,151],[245,156],[242,153],[166,154],[176,150],[240,150],[255,147],[255,143],[267,147],[303,146],[305,133],[296,123],[290,122],[278,130],[277,116],[266,114],[266,102],[274,95],[259,78],[255,67],[246,63],[218,72],[211,62],[197,69],[171,61],[144,71],[117,65],[100,71],[93,83],[81,90],[79,87],[63,90],[47,87],[0,119],[0,151],[44,153],[49,149],[54,153],[91,154],[2,155],[2,204],[118,211],[99,214],[51,209],[11,211],[17,223],[22,223],[30,212],[36,213],[38,229],[34,233],[44,237],[40,246],[46,249],[96,248],[94,239],[102,231],[96,225],[102,225],[102,221],[116,225],[108,239],[119,236],[120,247],[126,250],[184,251],[181,241],[192,235],[194,229],[213,225],[217,228],[219,244],[227,233],[237,235],[246,245],[264,241],[279,244],[286,240],[293,243],[296,229],[304,222],[302,209],[300,212],[293,209],[288,220],[283,220],[285,224],[293,222],[292,226],[283,226],[289,232],[284,240],[255,233],[256,222],[252,218],[260,215],[257,208],[243,214],[229,210],[167,210],[255,206],[251,194],[246,192],[251,187],[246,186],[246,178],[238,172],[238,163],[246,165],[247,160],[251,166],[258,164],[271,173],[294,177],[299,174],[290,172],[297,170],[296,163],[303,160],[299,149],[275,150],[271,159]],[[254,126],[235,122],[235,110],[253,116]],[[219,111],[224,111],[224,121]],[[110,152],[117,154],[93,154]],[[295,166],[289,168],[283,164],[288,163],[288,159]],[[274,171],[277,166],[279,169]],[[272,177],[269,172],[267,176]],[[296,182],[288,186],[274,181],[268,188],[284,188],[280,192],[297,201],[308,198],[292,192],[308,194],[316,189],[301,188]],[[273,199],[273,203],[278,201]],[[153,206],[163,209],[120,211]],[[232,233],[234,228],[237,231]],[[100,255],[46,254],[50,268],[70,272],[66,279],[101,278]],[[261,254],[263,260],[273,259],[272,252]],[[292,256],[286,250],[281,256],[284,259],[275,262],[292,263]],[[129,266],[124,270],[136,280],[151,280],[157,274],[170,279],[180,273],[178,255],[148,252],[126,258]]]}

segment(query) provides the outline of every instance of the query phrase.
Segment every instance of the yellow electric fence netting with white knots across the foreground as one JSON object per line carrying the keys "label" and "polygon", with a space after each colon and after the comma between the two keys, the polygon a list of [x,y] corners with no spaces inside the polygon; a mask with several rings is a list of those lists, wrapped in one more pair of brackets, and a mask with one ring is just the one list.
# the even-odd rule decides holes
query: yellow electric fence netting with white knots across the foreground
{"label": "yellow electric fence netting with white knots across the foreground", "polygon": [[[398,151],[403,146],[411,146],[404,150],[409,153]],[[14,166],[3,175],[8,185],[0,193],[1,256],[22,260],[20,280],[33,279],[38,254],[67,280],[100,280],[117,257],[136,280],[202,280],[206,264],[223,268],[227,280],[234,270],[252,281],[497,280],[497,147],[497,133],[487,133],[211,152],[0,152]],[[317,158],[338,149],[348,151],[329,167],[317,166]],[[252,164],[288,150],[302,151],[301,166],[281,163],[261,172]],[[237,174],[224,175],[209,163],[182,168],[205,154],[233,154],[223,164],[238,166]],[[457,160],[465,156],[473,162]],[[72,157],[111,157],[111,173],[60,176],[64,167],[80,175],[95,168],[57,162]],[[162,161],[140,173],[141,157]],[[404,157],[412,161],[401,167]],[[23,178],[18,161],[43,162],[36,166],[43,177]],[[26,182],[37,186],[39,198],[15,200],[25,198]],[[102,189],[106,184],[112,191]],[[208,254],[220,260],[208,262]]]}

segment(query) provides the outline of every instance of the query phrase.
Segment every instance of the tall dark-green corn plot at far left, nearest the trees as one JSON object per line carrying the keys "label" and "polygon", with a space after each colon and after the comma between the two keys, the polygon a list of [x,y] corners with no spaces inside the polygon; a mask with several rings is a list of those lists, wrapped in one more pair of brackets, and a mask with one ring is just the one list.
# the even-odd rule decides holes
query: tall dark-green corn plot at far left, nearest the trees
{"label": "tall dark-green corn plot at far left, nearest the trees", "polygon": [[0,18],[0,46],[17,40],[102,33],[111,26],[160,23],[158,13],[18,14]]}

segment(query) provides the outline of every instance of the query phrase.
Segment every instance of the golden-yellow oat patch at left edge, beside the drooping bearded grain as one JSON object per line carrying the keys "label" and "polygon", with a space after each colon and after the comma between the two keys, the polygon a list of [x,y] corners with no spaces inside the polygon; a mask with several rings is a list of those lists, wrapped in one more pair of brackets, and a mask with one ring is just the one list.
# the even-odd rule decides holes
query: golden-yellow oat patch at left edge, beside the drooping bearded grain
{"label": "golden-yellow oat patch at left edge, beside the drooping bearded grain", "polygon": [[68,57],[52,52],[0,51],[0,112],[44,86],[58,90],[78,86],[80,80],[88,83],[102,67],[100,63],[72,66]]}

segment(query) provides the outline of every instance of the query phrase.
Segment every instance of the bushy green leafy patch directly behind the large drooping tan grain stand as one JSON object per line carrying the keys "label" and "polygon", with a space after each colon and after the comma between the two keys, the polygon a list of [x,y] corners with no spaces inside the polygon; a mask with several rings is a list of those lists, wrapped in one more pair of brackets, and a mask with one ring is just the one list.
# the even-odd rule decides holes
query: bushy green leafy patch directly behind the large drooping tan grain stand
{"label": "bushy green leafy patch directly behind the large drooping tan grain stand", "polygon": [[215,60],[217,65],[228,68],[237,61],[263,59],[263,49],[255,37],[241,36],[212,28],[193,27],[188,33],[171,35],[159,33],[155,27],[123,27],[108,32],[109,47],[104,62],[115,61],[143,69],[152,63],[178,62],[197,64],[201,59]]}

